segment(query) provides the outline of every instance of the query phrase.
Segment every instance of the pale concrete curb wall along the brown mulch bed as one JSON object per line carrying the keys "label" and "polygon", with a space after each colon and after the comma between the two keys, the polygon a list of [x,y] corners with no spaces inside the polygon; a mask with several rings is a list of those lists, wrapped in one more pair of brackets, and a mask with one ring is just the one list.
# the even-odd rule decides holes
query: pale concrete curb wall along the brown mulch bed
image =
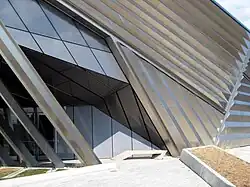
{"label": "pale concrete curb wall along the brown mulch bed", "polygon": [[196,157],[191,150],[192,148],[183,149],[180,160],[197,175],[199,175],[204,181],[212,187],[235,187],[234,184]]}

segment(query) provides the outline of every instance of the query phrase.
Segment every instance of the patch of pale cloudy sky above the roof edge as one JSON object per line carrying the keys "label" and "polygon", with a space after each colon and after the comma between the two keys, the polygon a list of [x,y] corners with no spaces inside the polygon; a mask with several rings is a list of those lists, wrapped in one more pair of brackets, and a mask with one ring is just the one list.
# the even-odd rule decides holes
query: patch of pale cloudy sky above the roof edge
{"label": "patch of pale cloudy sky above the roof edge", "polygon": [[222,7],[250,29],[250,0],[216,0]]}

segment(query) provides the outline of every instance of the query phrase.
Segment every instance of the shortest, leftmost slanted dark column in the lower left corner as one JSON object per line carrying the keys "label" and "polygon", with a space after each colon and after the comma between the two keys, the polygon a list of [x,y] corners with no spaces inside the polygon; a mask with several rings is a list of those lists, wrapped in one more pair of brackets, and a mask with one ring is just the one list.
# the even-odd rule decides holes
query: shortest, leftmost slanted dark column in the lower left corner
{"label": "shortest, leftmost slanted dark column in the lower left corner", "polygon": [[38,165],[36,159],[30,154],[29,150],[21,142],[18,136],[15,135],[14,131],[8,124],[7,119],[4,119],[2,115],[0,115],[0,134],[2,134],[4,139],[9,143],[20,159],[25,162],[27,167]]}

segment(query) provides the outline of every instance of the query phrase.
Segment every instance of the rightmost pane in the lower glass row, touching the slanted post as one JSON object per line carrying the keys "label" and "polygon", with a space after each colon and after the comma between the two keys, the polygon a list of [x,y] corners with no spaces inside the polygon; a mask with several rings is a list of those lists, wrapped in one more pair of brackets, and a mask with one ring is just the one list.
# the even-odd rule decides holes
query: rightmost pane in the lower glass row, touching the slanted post
{"label": "rightmost pane in the lower glass row, touching the slanted post", "polygon": [[108,76],[127,82],[112,53],[96,49],[92,51]]}

